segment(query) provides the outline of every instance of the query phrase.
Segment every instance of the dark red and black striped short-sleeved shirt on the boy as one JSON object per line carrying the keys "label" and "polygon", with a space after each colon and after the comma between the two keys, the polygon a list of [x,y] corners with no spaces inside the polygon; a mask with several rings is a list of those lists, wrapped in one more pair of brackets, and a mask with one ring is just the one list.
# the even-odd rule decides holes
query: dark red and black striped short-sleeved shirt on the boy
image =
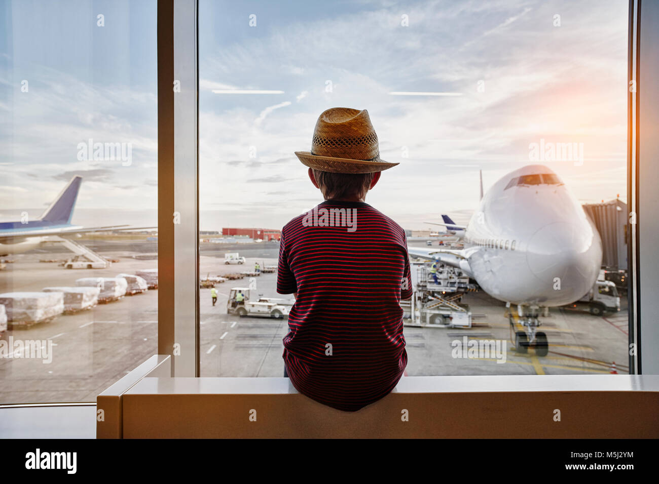
{"label": "dark red and black striped short-sleeved shirt on the boy", "polygon": [[400,300],[412,296],[405,231],[364,202],[327,200],[281,230],[277,292],[297,292],[283,338],[302,394],[354,412],[407,365]]}

